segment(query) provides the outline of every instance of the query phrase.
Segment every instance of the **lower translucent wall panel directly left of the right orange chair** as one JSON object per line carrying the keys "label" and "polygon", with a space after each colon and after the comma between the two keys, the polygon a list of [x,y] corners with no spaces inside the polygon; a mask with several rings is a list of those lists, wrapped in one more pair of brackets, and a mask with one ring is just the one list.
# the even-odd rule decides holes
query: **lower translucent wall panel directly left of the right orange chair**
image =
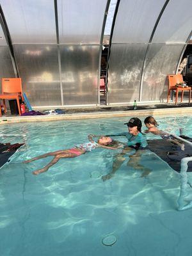
{"label": "lower translucent wall panel directly left of the right orange chair", "polygon": [[183,47],[184,45],[150,45],[143,71],[142,101],[166,99],[166,77],[175,73]]}

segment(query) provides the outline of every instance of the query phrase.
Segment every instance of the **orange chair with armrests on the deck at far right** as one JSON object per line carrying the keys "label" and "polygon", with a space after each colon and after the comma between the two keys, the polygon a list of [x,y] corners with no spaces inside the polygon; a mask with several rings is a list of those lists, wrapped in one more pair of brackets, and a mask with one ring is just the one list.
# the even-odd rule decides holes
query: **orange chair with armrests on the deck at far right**
{"label": "orange chair with armrests on the deck at far right", "polygon": [[181,93],[181,99],[180,102],[182,102],[183,100],[183,95],[184,95],[184,91],[189,91],[189,103],[191,102],[191,86],[187,86],[187,87],[182,87],[182,86],[176,86],[176,84],[179,83],[184,83],[183,78],[182,78],[182,74],[177,74],[177,75],[168,75],[168,96],[167,96],[167,102],[169,102],[170,100],[170,92],[171,91],[175,91],[175,105],[177,105],[177,100],[178,100],[178,94],[179,92]]}

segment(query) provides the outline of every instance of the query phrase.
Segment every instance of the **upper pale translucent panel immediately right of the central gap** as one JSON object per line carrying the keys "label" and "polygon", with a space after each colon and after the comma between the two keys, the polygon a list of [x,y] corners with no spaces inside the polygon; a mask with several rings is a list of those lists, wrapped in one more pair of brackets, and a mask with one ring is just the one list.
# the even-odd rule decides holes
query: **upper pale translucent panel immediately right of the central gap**
{"label": "upper pale translucent panel immediately right of the central gap", "polygon": [[113,43],[148,43],[165,0],[122,0],[118,7]]}

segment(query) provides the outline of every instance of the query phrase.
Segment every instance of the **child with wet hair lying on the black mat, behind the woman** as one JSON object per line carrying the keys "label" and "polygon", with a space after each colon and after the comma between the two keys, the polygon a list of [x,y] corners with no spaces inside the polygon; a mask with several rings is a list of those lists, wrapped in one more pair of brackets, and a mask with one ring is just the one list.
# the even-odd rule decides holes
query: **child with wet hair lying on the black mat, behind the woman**
{"label": "child with wet hair lying on the black mat, behind the woman", "polygon": [[168,134],[167,132],[161,131],[157,129],[157,121],[154,117],[152,116],[147,116],[144,120],[145,126],[148,128],[145,132],[152,132],[153,134],[161,136],[164,140],[168,140],[176,145],[179,145],[181,150],[184,150],[184,144],[180,143],[177,138],[175,138],[172,134]]}

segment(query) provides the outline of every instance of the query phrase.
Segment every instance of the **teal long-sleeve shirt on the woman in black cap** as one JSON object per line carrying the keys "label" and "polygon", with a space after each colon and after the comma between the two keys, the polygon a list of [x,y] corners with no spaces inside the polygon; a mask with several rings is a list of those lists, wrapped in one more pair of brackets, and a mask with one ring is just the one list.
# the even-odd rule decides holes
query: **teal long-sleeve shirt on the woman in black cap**
{"label": "teal long-sleeve shirt on the woman in black cap", "polygon": [[125,136],[127,138],[127,146],[131,147],[136,145],[137,143],[140,143],[140,147],[145,148],[147,147],[147,140],[145,136],[139,132],[138,135],[132,135],[129,132],[121,132],[121,133],[116,133],[116,134],[109,134],[107,136]]}

